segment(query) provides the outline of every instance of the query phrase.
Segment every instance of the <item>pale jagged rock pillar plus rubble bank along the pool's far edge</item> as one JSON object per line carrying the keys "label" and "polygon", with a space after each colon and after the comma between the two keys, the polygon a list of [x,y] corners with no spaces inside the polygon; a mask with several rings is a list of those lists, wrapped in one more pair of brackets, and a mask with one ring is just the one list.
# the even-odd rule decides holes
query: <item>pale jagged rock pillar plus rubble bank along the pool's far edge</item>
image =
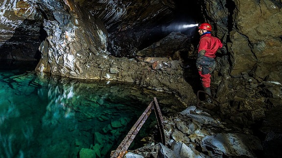
{"label": "pale jagged rock pillar plus rubble bank along the pool's far edge", "polygon": [[[156,69],[152,67],[153,62],[144,58],[110,56],[106,29],[72,0],[37,5],[48,13],[43,23],[48,36],[39,48],[42,59],[37,70],[73,78],[135,82],[149,89],[177,94],[187,99],[187,103],[195,99],[193,91],[188,90],[192,89],[191,86],[182,77],[184,68],[181,62],[165,58],[157,61],[163,66]],[[90,20],[83,21],[85,18]]]}

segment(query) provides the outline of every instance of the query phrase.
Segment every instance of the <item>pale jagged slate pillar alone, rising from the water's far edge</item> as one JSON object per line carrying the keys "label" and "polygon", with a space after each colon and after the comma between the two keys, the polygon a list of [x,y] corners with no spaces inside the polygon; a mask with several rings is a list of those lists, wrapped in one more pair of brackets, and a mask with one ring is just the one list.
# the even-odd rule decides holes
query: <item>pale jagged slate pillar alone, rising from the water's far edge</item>
{"label": "pale jagged slate pillar alone, rising from the water's far edge", "polygon": [[39,5],[49,18],[43,23],[48,36],[40,46],[43,58],[37,70],[74,78],[99,76],[99,71],[91,68],[96,55],[104,57],[108,53],[104,25],[72,0],[44,1]]}

